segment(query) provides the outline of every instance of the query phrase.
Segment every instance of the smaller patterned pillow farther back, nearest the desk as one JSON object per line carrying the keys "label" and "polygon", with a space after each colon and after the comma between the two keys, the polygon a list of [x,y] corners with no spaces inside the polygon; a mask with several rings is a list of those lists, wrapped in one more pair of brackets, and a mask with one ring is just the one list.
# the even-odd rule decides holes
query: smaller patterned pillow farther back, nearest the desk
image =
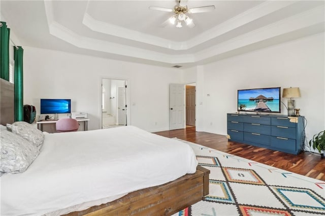
{"label": "smaller patterned pillow farther back, nearest the desk", "polygon": [[41,149],[44,141],[44,134],[31,124],[27,122],[15,122],[11,126],[11,131],[32,142],[38,149]]}

